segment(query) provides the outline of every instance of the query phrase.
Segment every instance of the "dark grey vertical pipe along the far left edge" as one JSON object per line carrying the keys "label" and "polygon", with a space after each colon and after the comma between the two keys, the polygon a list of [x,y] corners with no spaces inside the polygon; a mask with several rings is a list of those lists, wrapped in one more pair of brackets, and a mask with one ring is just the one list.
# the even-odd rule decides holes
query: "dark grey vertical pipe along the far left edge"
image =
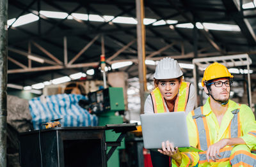
{"label": "dark grey vertical pipe along the far left edge", "polygon": [[6,166],[6,85],[7,85],[7,13],[8,1],[0,1],[0,164]]}

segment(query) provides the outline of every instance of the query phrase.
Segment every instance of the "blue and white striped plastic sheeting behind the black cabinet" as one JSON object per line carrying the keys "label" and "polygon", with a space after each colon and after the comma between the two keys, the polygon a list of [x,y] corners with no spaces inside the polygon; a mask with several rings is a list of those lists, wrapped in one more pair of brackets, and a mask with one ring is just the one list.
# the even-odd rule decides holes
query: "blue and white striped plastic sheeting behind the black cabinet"
{"label": "blue and white striped plastic sheeting behind the black cabinet", "polygon": [[60,118],[61,127],[97,126],[97,116],[81,108],[78,105],[80,99],[86,97],[81,94],[56,94],[29,100],[34,129],[42,129],[42,123]]}

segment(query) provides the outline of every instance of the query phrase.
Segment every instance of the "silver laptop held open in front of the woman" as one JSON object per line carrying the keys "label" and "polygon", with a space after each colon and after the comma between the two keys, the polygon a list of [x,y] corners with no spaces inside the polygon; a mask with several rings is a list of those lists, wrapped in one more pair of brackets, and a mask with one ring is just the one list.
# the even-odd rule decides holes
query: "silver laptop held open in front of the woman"
{"label": "silver laptop held open in front of the woman", "polygon": [[141,114],[140,119],[145,149],[161,149],[168,140],[180,152],[202,151],[189,145],[185,112]]}

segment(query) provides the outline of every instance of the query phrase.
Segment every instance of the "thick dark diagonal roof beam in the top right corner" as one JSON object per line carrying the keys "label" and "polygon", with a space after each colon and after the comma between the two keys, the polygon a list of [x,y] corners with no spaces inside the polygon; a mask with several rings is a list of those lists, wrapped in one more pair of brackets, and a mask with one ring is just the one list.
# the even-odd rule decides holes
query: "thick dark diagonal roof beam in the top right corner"
{"label": "thick dark diagonal roof beam in the top right corner", "polygon": [[246,18],[243,17],[243,13],[240,11],[240,6],[234,0],[222,0],[228,14],[232,17],[236,24],[240,27],[241,33],[246,37],[249,45],[256,45],[256,36],[252,29],[252,25]]}

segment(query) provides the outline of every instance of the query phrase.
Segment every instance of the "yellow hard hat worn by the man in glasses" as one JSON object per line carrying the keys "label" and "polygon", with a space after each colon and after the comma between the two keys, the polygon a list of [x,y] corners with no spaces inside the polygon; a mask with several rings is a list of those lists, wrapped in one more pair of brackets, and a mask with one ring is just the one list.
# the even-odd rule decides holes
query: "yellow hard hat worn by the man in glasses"
{"label": "yellow hard hat worn by the man in glasses", "polygon": [[204,87],[205,81],[214,80],[216,78],[233,78],[228,69],[218,62],[214,62],[209,65],[204,71],[204,77],[202,79],[202,86]]}

